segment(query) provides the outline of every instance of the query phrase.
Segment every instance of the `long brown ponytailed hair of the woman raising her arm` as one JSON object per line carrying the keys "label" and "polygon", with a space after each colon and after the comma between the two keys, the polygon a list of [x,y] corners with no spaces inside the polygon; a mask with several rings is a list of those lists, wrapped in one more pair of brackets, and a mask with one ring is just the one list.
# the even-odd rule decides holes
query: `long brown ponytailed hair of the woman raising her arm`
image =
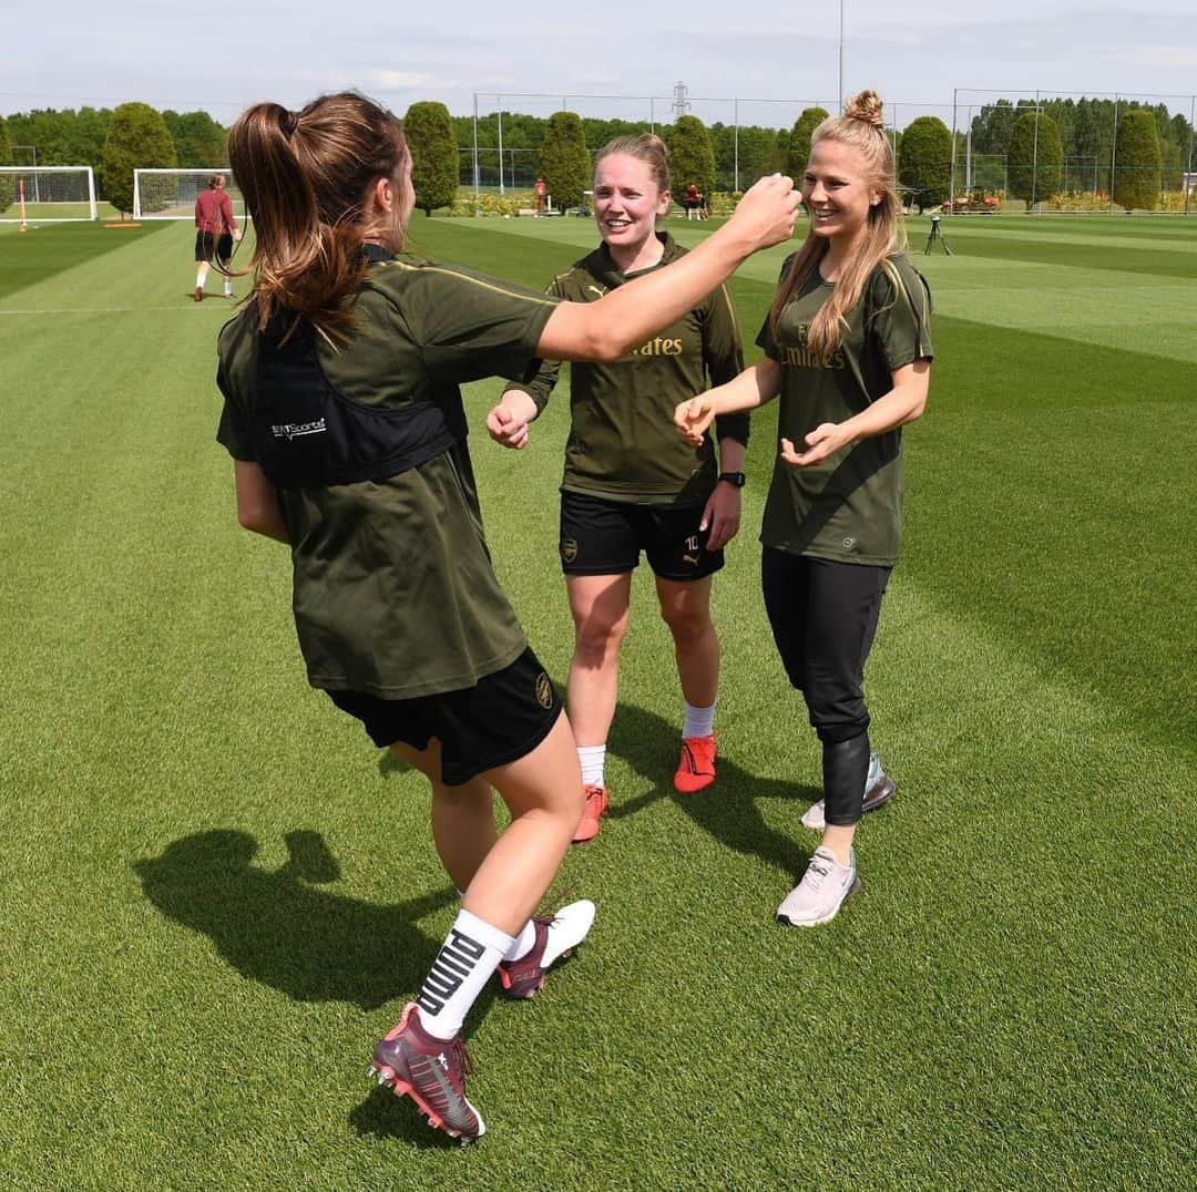
{"label": "long brown ponytailed hair of the woman raising her arm", "polygon": [[365,199],[373,182],[403,169],[399,122],[354,92],[321,96],[299,112],[260,103],[230,129],[229,160],[254,221],[259,327],[282,308],[345,339],[353,326],[346,299],[367,272],[361,245],[395,236],[367,223]]}

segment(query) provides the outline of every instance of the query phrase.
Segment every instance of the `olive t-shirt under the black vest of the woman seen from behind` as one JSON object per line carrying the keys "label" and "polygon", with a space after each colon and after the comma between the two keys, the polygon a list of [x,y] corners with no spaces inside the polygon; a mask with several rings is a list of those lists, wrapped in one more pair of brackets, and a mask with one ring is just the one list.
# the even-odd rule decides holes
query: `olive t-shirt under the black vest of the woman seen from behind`
{"label": "olive t-shirt under the black vest of the woman seen from behind", "polygon": [[[350,402],[457,400],[487,376],[527,378],[554,303],[466,269],[377,261],[347,345],[317,361]],[[218,440],[254,460],[256,312],[220,333]],[[474,686],[527,641],[491,566],[466,443],[379,481],[279,489],[299,646],[314,687],[409,699]]]}

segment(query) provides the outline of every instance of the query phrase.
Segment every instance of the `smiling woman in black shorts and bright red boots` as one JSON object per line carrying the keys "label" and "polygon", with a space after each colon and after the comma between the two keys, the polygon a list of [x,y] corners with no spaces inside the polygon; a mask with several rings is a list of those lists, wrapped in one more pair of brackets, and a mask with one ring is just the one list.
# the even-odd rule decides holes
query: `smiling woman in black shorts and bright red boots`
{"label": "smiling woman in black shorts and bright red boots", "polygon": [[[571,305],[593,305],[687,256],[657,225],[672,199],[660,136],[643,133],[604,145],[594,188],[602,243],[548,287]],[[680,400],[731,381],[742,369],[740,328],[721,285],[621,359],[571,370],[559,549],[575,626],[570,719],[587,792],[576,843],[598,834],[607,809],[607,735],[642,552],[673,635],[681,686],[674,789],[691,795],[715,782],[719,639],[711,621],[711,577],[740,528],[748,415],[718,420],[718,451],[706,434],[682,443],[669,420]],[[528,442],[528,422],[548,402],[558,372],[547,363],[531,384],[508,389],[487,421],[497,442],[512,448]]]}

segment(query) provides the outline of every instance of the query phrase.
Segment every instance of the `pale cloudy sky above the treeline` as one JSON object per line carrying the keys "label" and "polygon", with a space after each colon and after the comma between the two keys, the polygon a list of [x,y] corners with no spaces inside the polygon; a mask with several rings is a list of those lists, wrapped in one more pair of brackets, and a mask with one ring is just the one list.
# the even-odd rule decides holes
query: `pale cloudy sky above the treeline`
{"label": "pale cloudy sky above the treeline", "polygon": [[[26,10],[0,39],[0,114],[140,99],[205,108],[227,123],[257,99],[302,107],[353,86],[400,114],[415,99],[467,114],[482,92],[484,110],[503,93],[509,109],[547,114],[566,98],[591,115],[645,118],[668,111],[682,80],[704,120],[730,122],[740,97],[742,122],[782,126],[794,104],[827,105],[838,91],[838,4],[570,11],[450,0],[403,5],[409,17],[395,2],[208,7],[212,16],[198,18],[144,0],[103,8],[66,0],[53,23]],[[1146,0],[1136,16],[1076,0],[905,8],[845,0],[844,14],[845,91],[875,87],[899,124],[925,111],[947,118],[954,90],[962,108],[1035,89],[1175,96],[1166,102],[1185,115],[1181,97],[1197,93],[1193,0]],[[528,95],[543,98],[515,98]],[[581,95],[628,98],[569,98]]]}

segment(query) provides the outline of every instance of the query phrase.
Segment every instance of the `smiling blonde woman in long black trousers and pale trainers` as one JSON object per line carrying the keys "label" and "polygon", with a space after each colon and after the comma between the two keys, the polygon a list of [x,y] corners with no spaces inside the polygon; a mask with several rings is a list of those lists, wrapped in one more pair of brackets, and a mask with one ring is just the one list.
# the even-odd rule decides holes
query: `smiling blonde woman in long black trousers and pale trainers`
{"label": "smiling blonde woman in long black trousers and pale trainers", "polygon": [[[814,130],[802,201],[810,231],[782,268],[757,339],[765,358],[675,420],[694,442],[717,414],[782,397],[761,578],[822,744],[825,831],[777,918],[813,926],[859,888],[852,841],[874,780],[864,663],[901,539],[901,427],[923,413],[931,369],[930,294],[905,255],[875,92]],[[893,784],[869,793],[882,801]]]}

